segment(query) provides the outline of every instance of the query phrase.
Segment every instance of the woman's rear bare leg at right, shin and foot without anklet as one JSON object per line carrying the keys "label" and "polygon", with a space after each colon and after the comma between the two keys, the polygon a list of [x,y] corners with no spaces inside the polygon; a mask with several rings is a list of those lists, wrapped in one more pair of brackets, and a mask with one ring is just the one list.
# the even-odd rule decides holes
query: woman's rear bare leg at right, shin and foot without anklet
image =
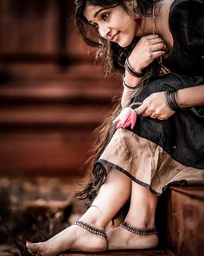
{"label": "woman's rear bare leg at right, shin and foot without anklet", "polygon": [[[131,206],[125,221],[139,228],[155,227],[157,197],[150,193],[148,188],[132,181]],[[144,249],[158,245],[156,234],[137,235],[121,226],[109,232],[108,249]]]}

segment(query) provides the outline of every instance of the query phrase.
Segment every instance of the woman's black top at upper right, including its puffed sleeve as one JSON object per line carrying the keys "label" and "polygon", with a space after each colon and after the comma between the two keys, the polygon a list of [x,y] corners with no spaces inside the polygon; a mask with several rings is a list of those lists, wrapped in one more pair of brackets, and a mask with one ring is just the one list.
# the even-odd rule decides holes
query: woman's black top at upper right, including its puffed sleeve
{"label": "woman's black top at upper right, including its puffed sleeve", "polygon": [[175,0],[169,30],[174,45],[165,64],[173,72],[204,76],[204,1]]}

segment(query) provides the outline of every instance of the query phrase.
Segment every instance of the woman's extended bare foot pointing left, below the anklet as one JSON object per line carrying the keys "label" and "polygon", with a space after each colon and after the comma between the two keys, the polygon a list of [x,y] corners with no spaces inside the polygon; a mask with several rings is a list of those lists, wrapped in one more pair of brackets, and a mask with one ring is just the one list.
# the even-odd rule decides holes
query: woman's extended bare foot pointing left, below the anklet
{"label": "woman's extended bare foot pointing left, below the anklet", "polygon": [[103,252],[107,249],[104,237],[90,233],[80,226],[70,226],[46,242],[26,244],[29,253],[41,256],[56,256],[67,250]]}

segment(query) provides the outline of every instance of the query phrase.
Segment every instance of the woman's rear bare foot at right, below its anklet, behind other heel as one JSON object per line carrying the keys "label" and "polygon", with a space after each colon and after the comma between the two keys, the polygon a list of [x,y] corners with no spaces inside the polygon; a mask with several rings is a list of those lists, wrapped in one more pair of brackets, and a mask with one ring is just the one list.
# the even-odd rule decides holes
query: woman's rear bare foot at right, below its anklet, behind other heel
{"label": "woman's rear bare foot at right, below its anklet, behind other heel", "polygon": [[138,235],[118,226],[107,232],[108,250],[151,249],[159,244],[157,234]]}

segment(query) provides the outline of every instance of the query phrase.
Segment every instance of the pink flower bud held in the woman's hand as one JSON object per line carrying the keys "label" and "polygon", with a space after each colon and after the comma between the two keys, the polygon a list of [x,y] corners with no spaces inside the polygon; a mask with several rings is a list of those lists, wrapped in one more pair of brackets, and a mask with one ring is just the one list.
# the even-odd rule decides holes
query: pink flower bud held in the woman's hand
{"label": "pink flower bud held in the woman's hand", "polygon": [[134,128],[135,123],[137,120],[137,115],[134,109],[132,108],[124,108],[120,114],[116,117],[112,123],[117,122],[117,128],[126,128],[131,126],[131,128]]}

